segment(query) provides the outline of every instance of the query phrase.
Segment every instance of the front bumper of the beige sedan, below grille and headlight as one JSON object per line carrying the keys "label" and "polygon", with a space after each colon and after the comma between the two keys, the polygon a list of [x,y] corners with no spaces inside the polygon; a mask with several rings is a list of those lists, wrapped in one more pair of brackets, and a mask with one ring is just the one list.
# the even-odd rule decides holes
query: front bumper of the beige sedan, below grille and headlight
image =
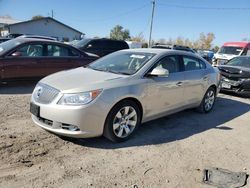
{"label": "front bumper of the beige sedan, below grille and headlight", "polygon": [[64,106],[56,102],[40,104],[33,99],[31,103],[40,108],[39,116],[32,114],[35,124],[55,134],[75,138],[101,136],[107,117],[105,112],[109,111],[102,100],[82,106]]}

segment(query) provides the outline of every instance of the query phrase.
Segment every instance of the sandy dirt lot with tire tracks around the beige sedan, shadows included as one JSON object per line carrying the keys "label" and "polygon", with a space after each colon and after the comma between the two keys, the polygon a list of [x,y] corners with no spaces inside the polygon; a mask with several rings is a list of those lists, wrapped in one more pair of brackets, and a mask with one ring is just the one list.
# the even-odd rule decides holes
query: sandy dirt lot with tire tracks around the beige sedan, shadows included
{"label": "sandy dirt lot with tire tracks around the beige sedan, shadows included", "polygon": [[249,99],[220,94],[209,114],[177,113],[113,144],[63,140],[36,126],[32,88],[0,86],[0,187],[208,187],[206,167],[250,174]]}

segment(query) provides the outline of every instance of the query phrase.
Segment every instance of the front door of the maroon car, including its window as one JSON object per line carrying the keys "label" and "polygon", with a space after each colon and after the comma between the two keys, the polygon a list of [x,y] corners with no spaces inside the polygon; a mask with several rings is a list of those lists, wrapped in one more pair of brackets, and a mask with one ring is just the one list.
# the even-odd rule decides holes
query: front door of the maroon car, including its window
{"label": "front door of the maroon car, including its window", "polygon": [[[16,54],[19,54],[16,56]],[[18,47],[3,58],[2,78],[41,77],[45,73],[40,59],[44,56],[44,45],[28,43]]]}

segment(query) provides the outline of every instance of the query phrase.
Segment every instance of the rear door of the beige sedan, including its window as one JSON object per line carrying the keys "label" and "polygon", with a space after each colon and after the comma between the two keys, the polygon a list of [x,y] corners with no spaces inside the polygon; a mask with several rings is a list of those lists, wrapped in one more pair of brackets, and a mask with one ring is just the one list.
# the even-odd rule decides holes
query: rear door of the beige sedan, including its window
{"label": "rear door of the beige sedan, including its window", "polygon": [[210,77],[206,71],[206,64],[192,56],[182,56],[185,70],[185,80],[183,82],[185,103],[187,105],[201,102],[206,84]]}

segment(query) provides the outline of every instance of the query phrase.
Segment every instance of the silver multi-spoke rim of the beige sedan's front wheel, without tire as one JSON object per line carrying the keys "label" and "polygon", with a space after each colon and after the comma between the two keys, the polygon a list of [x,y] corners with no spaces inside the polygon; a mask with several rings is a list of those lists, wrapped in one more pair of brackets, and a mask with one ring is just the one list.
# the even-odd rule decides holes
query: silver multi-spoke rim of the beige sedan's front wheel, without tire
{"label": "silver multi-spoke rim of the beige sedan's front wheel, without tire", "polygon": [[132,106],[125,106],[120,109],[113,121],[113,131],[119,138],[130,135],[137,124],[137,113]]}

